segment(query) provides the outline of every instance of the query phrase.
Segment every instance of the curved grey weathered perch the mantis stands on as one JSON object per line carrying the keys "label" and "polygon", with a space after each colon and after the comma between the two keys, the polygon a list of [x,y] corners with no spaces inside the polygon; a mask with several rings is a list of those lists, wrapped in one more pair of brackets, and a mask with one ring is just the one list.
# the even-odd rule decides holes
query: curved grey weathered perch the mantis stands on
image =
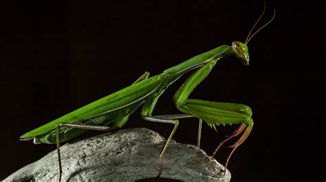
{"label": "curved grey weathered perch the mantis stands on", "polygon": [[[61,146],[63,181],[137,181],[155,178],[165,139],[149,129],[123,129]],[[171,142],[161,178],[230,181],[221,164],[190,144]],[[58,181],[56,151],[11,174],[4,181]]]}

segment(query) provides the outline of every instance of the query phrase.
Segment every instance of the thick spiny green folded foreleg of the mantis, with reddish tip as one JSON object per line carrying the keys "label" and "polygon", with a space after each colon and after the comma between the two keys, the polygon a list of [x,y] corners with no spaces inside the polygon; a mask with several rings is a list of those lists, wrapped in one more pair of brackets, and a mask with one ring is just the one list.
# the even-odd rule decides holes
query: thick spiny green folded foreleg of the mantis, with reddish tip
{"label": "thick spiny green folded foreleg of the mantis, with reddish tip", "polygon": [[[173,96],[173,101],[175,102],[175,105],[177,108],[184,112],[185,114],[193,115],[200,120],[204,120],[210,127],[214,128],[216,130],[216,125],[220,124],[241,124],[239,129],[233,133],[229,138],[221,142],[223,144],[230,138],[235,137],[236,135],[239,135],[245,128],[246,130],[243,132],[243,135],[241,138],[233,144],[232,151],[230,155],[228,156],[228,159],[226,159],[225,168],[228,166],[228,161],[232,155],[232,153],[235,151],[235,149],[241,145],[246,138],[248,138],[248,135],[250,134],[250,131],[252,130],[254,122],[252,121],[252,112],[250,107],[242,104],[237,103],[217,103],[217,102],[211,102],[211,101],[202,101],[197,99],[188,99],[189,94],[193,91],[193,89],[210,73],[210,70],[212,70],[213,66],[215,66],[217,60],[211,60],[202,68],[199,68],[191,75],[191,77],[188,77],[188,79],[182,84],[182,86],[177,90],[175,96]],[[199,120],[199,122],[200,122]],[[201,125],[199,123],[199,136],[198,136],[198,146],[200,141],[200,129]],[[217,147],[217,150],[221,146],[221,144]],[[215,150],[215,153],[216,151]],[[214,155],[215,155],[214,153]]]}

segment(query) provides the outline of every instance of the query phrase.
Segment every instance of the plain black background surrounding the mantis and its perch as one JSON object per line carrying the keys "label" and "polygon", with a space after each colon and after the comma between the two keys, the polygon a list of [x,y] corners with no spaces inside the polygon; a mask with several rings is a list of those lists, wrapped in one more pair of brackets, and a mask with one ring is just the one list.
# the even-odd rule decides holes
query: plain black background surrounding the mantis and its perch
{"label": "plain black background surrounding the mantis and its perch", "polygon": [[[220,60],[191,98],[243,103],[254,128],[232,156],[232,181],[301,181],[325,161],[325,6],[321,1],[267,1],[248,44],[250,66]],[[145,70],[162,73],[194,55],[244,41],[263,1],[9,1],[1,5],[0,179],[54,150],[19,136],[67,112],[129,86]],[[179,113],[167,90],[153,114]],[[140,119],[167,137],[173,126]],[[320,131],[318,131],[320,128]],[[235,127],[204,125],[211,154]],[[196,144],[197,120],[182,120],[174,140]],[[224,164],[230,148],[217,159]],[[323,167],[322,167],[323,168]],[[325,170],[325,168],[323,168]],[[325,172],[325,171],[324,171]],[[325,180],[325,175],[321,179]]]}

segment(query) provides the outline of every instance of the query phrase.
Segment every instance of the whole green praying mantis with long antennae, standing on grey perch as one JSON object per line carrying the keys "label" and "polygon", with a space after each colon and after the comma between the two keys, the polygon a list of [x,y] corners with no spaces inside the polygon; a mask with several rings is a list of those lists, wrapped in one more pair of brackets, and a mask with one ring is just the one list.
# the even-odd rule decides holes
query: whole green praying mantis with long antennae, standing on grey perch
{"label": "whole green praying mantis with long antennae, standing on grey perch", "polygon": [[[263,13],[265,12],[265,8]],[[208,126],[216,130],[218,125],[232,125],[239,124],[238,129],[223,140],[217,146],[212,157],[217,153],[224,142],[234,138],[243,133],[239,140],[232,146],[232,151],[226,159],[225,169],[228,166],[228,161],[235,151],[240,146],[252,131],[254,122],[252,120],[252,111],[250,107],[237,103],[219,103],[213,101],[203,101],[198,99],[188,99],[188,96],[193,92],[193,89],[207,77],[213,69],[217,61],[223,57],[235,56],[244,65],[249,65],[249,53],[247,44],[259,30],[268,25],[275,16],[275,11],[272,19],[263,25],[259,30],[251,35],[252,30],[257,25],[258,21],[252,27],[248,37],[244,43],[239,41],[232,42],[231,45],[222,45],[212,49],[206,53],[196,55],[195,57],[177,64],[163,71],[160,75],[149,77],[149,73],[145,72],[138,78],[131,86],[109,94],[98,101],[89,103],[84,107],[76,109],[61,118],[52,120],[47,124],[38,127],[21,136],[21,140],[34,139],[35,144],[46,143],[56,144],[58,153],[59,166],[59,180],[61,180],[61,152],[59,142],[72,140],[87,133],[88,130],[112,131],[113,129],[121,128],[129,119],[129,116],[135,112],[138,107],[142,106],[142,118],[153,122],[163,122],[174,125],[171,134],[169,135],[162,152],[160,153],[159,172],[162,172],[162,162],[164,153],[168,148],[171,139],[179,125],[179,119],[182,118],[199,118],[198,142],[200,144],[200,136],[202,130],[202,121],[206,122]],[[251,36],[250,36],[251,35]],[[157,100],[163,94],[164,90],[177,81],[182,75],[193,71],[190,77],[182,83],[182,86],[177,90],[173,96],[173,102],[177,109],[182,114],[152,116],[153,109]]]}

